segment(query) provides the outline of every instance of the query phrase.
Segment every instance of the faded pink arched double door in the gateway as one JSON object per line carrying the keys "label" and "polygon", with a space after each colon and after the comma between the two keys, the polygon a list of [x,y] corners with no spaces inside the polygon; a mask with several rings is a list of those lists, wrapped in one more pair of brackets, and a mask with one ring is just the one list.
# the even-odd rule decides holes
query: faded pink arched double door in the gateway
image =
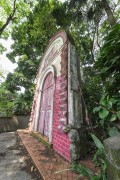
{"label": "faded pink arched double door in the gateway", "polygon": [[41,105],[39,113],[38,131],[49,136],[50,121],[53,104],[53,74],[48,73],[42,88]]}

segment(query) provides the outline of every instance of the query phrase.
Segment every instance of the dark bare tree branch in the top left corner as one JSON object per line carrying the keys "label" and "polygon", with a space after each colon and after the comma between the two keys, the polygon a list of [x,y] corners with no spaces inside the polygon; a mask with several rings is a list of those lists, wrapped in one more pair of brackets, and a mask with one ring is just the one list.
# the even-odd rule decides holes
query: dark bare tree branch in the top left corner
{"label": "dark bare tree branch in the top left corner", "polygon": [[14,17],[14,14],[15,14],[15,12],[16,12],[16,9],[17,9],[17,7],[16,7],[16,0],[14,0],[13,10],[12,10],[12,12],[10,13],[10,15],[8,16],[5,24],[0,28],[0,36],[1,36],[1,34],[3,33],[3,31],[5,30],[5,28],[8,26],[8,24],[10,23],[10,21],[12,21],[12,19],[13,19],[13,17]]}

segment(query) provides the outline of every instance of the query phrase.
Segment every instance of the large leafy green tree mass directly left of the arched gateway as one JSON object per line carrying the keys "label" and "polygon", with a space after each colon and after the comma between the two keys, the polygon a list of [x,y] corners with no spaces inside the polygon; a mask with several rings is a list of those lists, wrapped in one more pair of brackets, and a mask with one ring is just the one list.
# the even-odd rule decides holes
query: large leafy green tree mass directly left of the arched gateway
{"label": "large leafy green tree mass directly left of the arched gateway", "polygon": [[[58,30],[53,11],[56,8],[62,8],[59,1],[52,2],[39,1],[34,4],[32,10],[25,9],[26,4],[22,0],[19,3],[19,11],[25,10],[24,20],[16,20],[13,24],[12,52],[7,56],[18,67],[14,73],[9,73],[6,79],[6,87],[11,92],[16,93],[21,87],[25,88],[24,94],[18,94],[15,101],[15,113],[28,114],[31,111],[31,105],[34,93],[34,83],[36,73],[39,67],[40,59],[51,36]],[[23,8],[23,9],[22,9]],[[18,57],[18,58],[16,58]]]}

